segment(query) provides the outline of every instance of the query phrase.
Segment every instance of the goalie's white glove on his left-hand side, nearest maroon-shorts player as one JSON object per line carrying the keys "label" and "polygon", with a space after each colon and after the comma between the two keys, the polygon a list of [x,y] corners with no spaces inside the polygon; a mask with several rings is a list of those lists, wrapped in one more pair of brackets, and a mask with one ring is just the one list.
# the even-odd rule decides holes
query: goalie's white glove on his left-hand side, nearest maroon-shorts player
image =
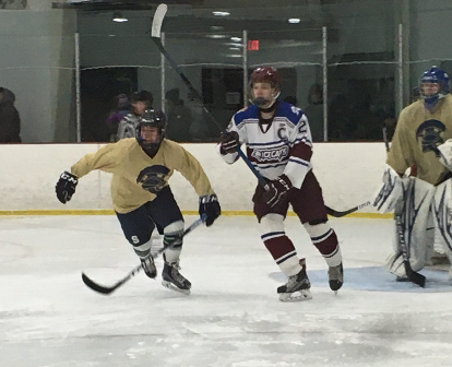
{"label": "goalie's white glove on his left-hand side, nearest maroon-shorts player", "polygon": [[394,210],[396,202],[403,194],[403,180],[389,165],[383,174],[383,187],[377,192],[373,206],[380,214]]}

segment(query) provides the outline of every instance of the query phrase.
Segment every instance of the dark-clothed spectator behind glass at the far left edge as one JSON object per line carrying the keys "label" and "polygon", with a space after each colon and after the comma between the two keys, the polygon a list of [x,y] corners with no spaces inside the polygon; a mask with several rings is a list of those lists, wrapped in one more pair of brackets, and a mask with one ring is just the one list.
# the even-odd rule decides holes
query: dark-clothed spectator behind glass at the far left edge
{"label": "dark-clothed spectator behind glass at the far left edge", "polygon": [[0,86],[0,143],[22,143],[21,117],[14,102],[14,93]]}

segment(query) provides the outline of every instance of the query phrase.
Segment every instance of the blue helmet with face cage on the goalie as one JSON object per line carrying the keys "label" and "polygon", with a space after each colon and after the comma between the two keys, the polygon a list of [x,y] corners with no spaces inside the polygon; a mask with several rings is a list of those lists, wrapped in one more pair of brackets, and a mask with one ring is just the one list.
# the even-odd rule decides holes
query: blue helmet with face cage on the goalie
{"label": "blue helmet with face cage on the goalie", "polygon": [[[438,84],[435,88],[431,84]],[[419,86],[420,97],[428,109],[433,108],[438,102],[449,93],[449,75],[444,70],[431,67],[424,72]]]}

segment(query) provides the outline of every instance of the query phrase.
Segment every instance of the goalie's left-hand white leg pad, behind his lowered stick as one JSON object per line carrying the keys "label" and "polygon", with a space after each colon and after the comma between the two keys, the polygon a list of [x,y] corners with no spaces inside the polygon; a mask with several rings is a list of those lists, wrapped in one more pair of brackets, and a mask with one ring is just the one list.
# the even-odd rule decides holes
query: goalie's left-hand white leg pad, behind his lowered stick
{"label": "goalie's left-hand white leg pad, behind his lowered stick", "polygon": [[[397,205],[407,254],[413,271],[424,269],[435,244],[435,225],[431,203],[436,187],[416,177],[409,177],[404,185],[403,205]],[[394,228],[394,252],[385,268],[397,276],[405,276],[397,227]]]}

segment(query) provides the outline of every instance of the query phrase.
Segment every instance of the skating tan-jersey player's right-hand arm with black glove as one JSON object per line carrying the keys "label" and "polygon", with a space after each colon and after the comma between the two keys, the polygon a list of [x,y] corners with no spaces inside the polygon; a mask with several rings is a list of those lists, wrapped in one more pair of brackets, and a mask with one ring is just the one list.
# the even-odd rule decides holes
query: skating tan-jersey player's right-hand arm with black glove
{"label": "skating tan-jersey player's right-hand arm with black glove", "polygon": [[222,213],[218,198],[212,189],[211,182],[205,175],[200,162],[187,152],[181,145],[174,143],[173,167],[191,183],[200,197],[200,215],[205,215],[205,224],[211,226]]}

